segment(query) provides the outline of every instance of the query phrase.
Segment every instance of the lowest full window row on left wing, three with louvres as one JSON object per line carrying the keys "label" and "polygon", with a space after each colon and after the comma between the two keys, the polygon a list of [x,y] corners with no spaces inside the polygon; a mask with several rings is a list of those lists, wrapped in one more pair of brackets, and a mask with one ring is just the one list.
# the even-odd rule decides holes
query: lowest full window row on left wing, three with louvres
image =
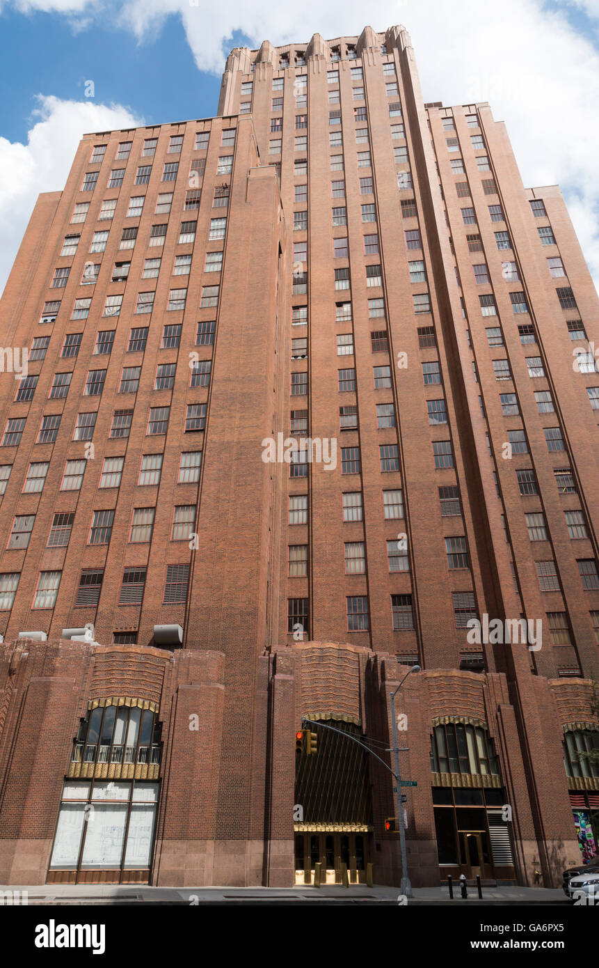
{"label": "lowest full window row on left wing, three with louvres", "polygon": [[[104,582],[104,568],[83,568],[76,591],[75,608],[96,608]],[[41,571],[34,594],[32,608],[53,609],[56,605],[62,571]],[[146,568],[125,568],[120,605],[135,605],[141,602],[145,586]],[[190,578],[189,564],[167,564],[163,604],[184,604]],[[7,572],[0,575],[0,611],[8,612],[13,608],[18,589],[20,572]]]}

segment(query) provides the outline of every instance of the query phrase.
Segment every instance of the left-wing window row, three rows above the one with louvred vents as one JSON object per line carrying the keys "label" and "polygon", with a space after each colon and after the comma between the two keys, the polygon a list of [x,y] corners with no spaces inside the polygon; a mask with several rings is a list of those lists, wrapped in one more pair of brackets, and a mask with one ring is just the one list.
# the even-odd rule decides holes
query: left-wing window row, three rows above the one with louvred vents
{"label": "left-wing window row, three rows above the one with louvred vents", "polygon": [[[146,436],[165,434],[168,428],[169,407],[151,407],[146,425]],[[108,437],[110,439],[125,439],[129,437],[133,422],[134,411],[115,410],[112,415],[112,423]],[[91,413],[77,413],[75,423],[74,440],[91,440],[94,435],[96,410]],[[42,424],[36,443],[53,443],[57,437],[58,429],[62,420],[62,413],[49,414],[42,417]],[[20,443],[25,429],[26,417],[10,417],[6,422],[4,435],[2,437],[2,447],[16,447]],[[185,420],[185,430],[197,431],[204,430],[206,424],[206,404],[188,404],[187,416]],[[85,462],[83,462],[85,463]],[[6,472],[10,465],[0,466],[0,472]],[[10,471],[9,471],[10,473]],[[8,479],[8,474],[6,478]],[[3,494],[4,491],[0,491]]]}

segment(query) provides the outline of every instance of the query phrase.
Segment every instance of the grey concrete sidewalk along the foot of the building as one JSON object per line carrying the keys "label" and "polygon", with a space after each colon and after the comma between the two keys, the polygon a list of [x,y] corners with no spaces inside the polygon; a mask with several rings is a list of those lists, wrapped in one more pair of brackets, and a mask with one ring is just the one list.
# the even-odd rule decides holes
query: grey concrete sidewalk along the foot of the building
{"label": "grey concrete sidewalk along the foot of the building", "polygon": [[[101,885],[101,884],[45,884],[25,887],[0,887],[4,904],[18,903],[15,892],[26,892],[29,905],[198,905],[198,904],[383,904],[400,903],[399,888],[375,885],[367,888],[362,884],[329,885],[314,888],[309,885],[290,888],[151,888],[147,885]],[[24,899],[24,897],[23,897]],[[454,899],[449,897],[446,886],[439,888],[415,888],[414,897],[407,905],[453,904],[466,905],[528,905],[570,904],[561,889],[494,887],[483,888],[482,900],[476,888],[468,887],[468,896],[460,895],[454,888]]]}

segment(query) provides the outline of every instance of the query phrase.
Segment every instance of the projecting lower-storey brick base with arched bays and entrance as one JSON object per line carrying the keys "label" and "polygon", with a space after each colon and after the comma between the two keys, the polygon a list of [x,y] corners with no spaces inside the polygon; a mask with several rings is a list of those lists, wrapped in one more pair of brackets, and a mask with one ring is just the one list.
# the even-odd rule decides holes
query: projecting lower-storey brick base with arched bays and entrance
{"label": "projecting lower-storey brick base with arched bays and entrance", "polygon": [[[0,648],[0,883],[399,886],[396,656],[315,642],[257,656],[237,749],[221,652]],[[414,887],[448,871],[555,887],[581,862],[580,802],[599,780],[566,775],[562,740],[592,728],[589,695],[531,676],[517,715],[503,674],[408,677],[395,710]]]}

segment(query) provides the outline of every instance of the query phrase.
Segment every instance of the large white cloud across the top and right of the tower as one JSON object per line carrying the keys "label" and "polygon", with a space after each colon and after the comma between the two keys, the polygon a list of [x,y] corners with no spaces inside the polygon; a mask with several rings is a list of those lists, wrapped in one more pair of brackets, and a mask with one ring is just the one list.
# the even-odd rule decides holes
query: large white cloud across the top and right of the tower
{"label": "large white cloud across the top and right of the tower", "polygon": [[[359,34],[365,16],[375,30],[402,22],[416,53],[425,101],[489,101],[506,122],[524,185],[558,183],[594,278],[599,282],[599,51],[568,14],[599,16],[599,0],[15,0],[27,8],[84,11],[155,38],[170,15],[185,28],[197,67],[221,73],[234,32],[257,46]],[[106,7],[105,4],[113,6]],[[215,105],[216,110],[216,105]],[[173,116],[176,111],[173,111]],[[93,126],[92,126],[93,127]],[[70,156],[66,153],[66,166]],[[66,170],[66,167],[65,167]]]}

